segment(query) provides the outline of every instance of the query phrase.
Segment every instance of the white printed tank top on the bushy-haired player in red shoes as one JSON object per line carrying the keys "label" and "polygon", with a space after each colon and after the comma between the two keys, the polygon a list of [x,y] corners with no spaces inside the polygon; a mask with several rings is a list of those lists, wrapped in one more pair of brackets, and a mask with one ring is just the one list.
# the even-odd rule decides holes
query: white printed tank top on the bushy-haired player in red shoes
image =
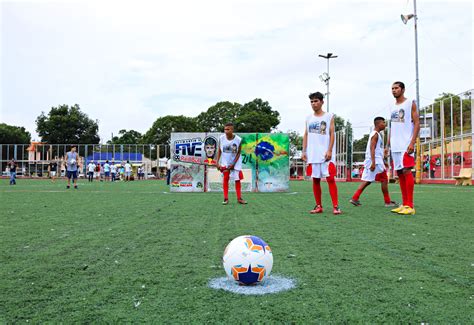
{"label": "white printed tank top on the bushy-haired player in red shoes", "polygon": [[[308,164],[326,161],[324,156],[329,149],[329,130],[333,116],[332,113],[325,112],[322,116],[312,114],[306,118],[306,131],[308,132],[306,155]],[[334,139],[330,161],[336,161],[336,139]]]}

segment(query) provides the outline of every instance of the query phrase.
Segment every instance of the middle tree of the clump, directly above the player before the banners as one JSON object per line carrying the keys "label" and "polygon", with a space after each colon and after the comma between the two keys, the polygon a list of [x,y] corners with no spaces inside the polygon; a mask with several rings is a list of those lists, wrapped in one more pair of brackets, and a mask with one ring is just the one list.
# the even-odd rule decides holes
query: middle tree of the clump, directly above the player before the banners
{"label": "middle tree of the clump, directly above the player before the banners", "polygon": [[196,117],[197,128],[202,132],[223,132],[224,125],[235,121],[241,109],[239,103],[218,102]]}

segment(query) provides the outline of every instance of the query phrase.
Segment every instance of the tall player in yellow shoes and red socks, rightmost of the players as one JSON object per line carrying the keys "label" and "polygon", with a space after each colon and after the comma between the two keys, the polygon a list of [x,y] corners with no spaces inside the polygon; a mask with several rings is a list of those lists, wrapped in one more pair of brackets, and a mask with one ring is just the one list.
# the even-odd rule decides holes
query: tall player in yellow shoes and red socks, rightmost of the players
{"label": "tall player in yellow shoes and red socks, rightmost of the players", "polygon": [[390,111],[390,136],[386,153],[391,151],[394,169],[398,174],[402,205],[392,210],[394,213],[414,215],[413,192],[415,180],[411,169],[415,166],[415,142],[420,131],[417,103],[405,97],[405,84],[395,81],[392,84],[395,103]]}

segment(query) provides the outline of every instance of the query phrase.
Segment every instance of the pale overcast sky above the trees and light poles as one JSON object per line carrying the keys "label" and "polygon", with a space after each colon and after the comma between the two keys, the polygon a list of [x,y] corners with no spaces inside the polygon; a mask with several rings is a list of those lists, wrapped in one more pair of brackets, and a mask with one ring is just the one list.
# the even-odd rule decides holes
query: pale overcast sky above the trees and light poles
{"label": "pale overcast sky above the trees and light poles", "polygon": [[[421,104],[473,88],[471,1],[418,0]],[[415,97],[412,0],[2,1],[0,121],[25,126],[79,104],[102,141],[146,132],[160,116],[262,98],[279,129],[303,132],[307,95],[325,85],[330,111],[356,137],[388,115],[391,83]]]}

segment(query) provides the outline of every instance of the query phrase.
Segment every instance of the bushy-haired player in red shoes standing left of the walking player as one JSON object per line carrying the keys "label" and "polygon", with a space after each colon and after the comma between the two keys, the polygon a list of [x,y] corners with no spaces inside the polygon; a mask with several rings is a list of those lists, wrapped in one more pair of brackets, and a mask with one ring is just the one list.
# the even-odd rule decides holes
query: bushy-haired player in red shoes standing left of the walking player
{"label": "bushy-haired player in red shoes standing left of the walking player", "polygon": [[313,114],[306,118],[302,158],[308,163],[308,173],[310,170],[313,178],[313,194],[316,206],[310,213],[323,212],[321,178],[326,177],[332,199],[332,212],[338,215],[342,212],[339,209],[337,185],[334,179],[336,175],[336,166],[334,165],[336,156],[334,115],[323,111],[323,98],[323,94],[319,91],[309,95]]}

